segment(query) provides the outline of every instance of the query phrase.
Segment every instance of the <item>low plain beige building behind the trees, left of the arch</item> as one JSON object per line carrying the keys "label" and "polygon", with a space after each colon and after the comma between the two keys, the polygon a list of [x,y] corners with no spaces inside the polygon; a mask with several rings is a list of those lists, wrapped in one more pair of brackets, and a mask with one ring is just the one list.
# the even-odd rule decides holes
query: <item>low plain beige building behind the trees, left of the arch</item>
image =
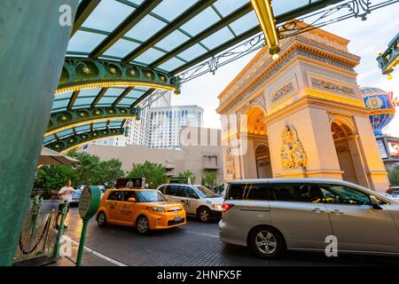
{"label": "low plain beige building behind the trees, left of the arch", "polygon": [[160,163],[165,166],[168,177],[178,176],[185,170],[195,175],[195,183],[208,171],[215,171],[217,183],[223,182],[223,146],[221,131],[210,129],[184,129],[185,143],[179,149],[150,148],[149,146],[100,146],[91,144],[86,151],[97,155],[101,161],[119,159],[122,170],[131,170],[134,163],[146,161]]}

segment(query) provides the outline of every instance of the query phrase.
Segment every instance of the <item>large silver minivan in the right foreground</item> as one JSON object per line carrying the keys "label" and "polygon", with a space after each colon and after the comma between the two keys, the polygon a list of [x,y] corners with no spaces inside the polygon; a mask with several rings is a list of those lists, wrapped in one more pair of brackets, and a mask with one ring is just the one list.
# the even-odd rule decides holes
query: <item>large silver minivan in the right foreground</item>
{"label": "large silver minivan in the right foreground", "polygon": [[341,180],[270,178],[232,181],[219,234],[271,258],[286,249],[399,255],[399,202]]}

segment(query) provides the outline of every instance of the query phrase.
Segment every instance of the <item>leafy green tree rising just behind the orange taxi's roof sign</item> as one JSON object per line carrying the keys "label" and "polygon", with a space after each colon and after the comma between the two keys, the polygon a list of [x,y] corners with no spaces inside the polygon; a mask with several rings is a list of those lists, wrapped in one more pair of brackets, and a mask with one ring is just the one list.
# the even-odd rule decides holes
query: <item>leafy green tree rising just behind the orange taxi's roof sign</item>
{"label": "leafy green tree rising just behind the orange taxi's roof sign", "polygon": [[133,164],[128,177],[145,177],[145,183],[150,188],[157,188],[161,184],[167,183],[166,169],[163,165],[145,161],[145,163]]}

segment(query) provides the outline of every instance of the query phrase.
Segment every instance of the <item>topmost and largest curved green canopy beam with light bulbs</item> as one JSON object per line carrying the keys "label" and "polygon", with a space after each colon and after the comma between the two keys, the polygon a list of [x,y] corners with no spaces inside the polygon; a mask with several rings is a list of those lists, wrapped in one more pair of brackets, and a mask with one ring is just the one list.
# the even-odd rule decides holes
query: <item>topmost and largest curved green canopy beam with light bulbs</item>
{"label": "topmost and largest curved green canopy beam with light bulbs", "polygon": [[148,87],[180,93],[179,78],[149,67],[104,59],[68,57],[56,95],[82,89]]}

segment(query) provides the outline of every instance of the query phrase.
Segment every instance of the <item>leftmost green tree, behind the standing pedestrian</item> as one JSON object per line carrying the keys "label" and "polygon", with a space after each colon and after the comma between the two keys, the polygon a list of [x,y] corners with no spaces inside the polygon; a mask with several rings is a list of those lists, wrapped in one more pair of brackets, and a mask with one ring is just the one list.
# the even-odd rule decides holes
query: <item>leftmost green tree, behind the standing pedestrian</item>
{"label": "leftmost green tree, behind the standing pedestrian", "polygon": [[43,189],[59,189],[71,180],[76,185],[76,172],[66,165],[43,166],[37,170],[35,187]]}

